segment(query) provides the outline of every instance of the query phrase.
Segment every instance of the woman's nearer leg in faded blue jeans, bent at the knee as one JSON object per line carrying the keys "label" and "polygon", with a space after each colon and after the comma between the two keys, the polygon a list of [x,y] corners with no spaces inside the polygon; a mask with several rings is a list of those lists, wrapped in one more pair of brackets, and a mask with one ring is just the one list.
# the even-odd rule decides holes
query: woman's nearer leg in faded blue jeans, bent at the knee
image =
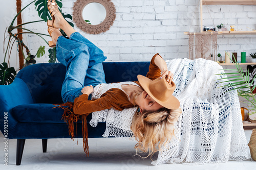
{"label": "woman's nearer leg in faded blue jeans, bent at the knee", "polygon": [[61,95],[63,102],[74,102],[81,95],[89,67],[89,48],[80,42],[72,41],[63,36],[56,43],[58,61],[67,67]]}

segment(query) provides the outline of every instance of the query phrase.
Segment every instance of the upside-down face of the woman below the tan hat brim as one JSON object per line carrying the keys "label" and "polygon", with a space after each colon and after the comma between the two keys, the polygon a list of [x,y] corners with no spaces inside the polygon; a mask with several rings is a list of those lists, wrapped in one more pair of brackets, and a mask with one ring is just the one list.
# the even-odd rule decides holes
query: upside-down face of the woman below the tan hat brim
{"label": "upside-down face of the woman below the tan hat brim", "polygon": [[140,112],[143,112],[144,110],[157,111],[158,109],[163,108],[163,106],[152,99],[145,90],[137,97],[136,104],[139,105]]}

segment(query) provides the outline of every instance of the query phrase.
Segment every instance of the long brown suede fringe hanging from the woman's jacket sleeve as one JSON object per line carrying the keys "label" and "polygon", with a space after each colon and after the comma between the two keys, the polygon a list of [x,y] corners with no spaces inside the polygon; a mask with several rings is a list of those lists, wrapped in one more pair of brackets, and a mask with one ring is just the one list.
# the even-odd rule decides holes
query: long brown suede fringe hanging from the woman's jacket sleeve
{"label": "long brown suede fringe hanging from the woman's jacket sleeve", "polygon": [[[69,135],[73,140],[75,138],[74,123],[76,123],[76,127],[77,127],[77,121],[79,119],[82,120],[83,151],[86,153],[86,156],[89,156],[88,127],[87,127],[87,120],[86,120],[88,114],[82,114],[82,115],[75,114],[73,111],[74,103],[72,102],[67,102],[63,104],[54,104],[54,106],[56,106],[54,108],[61,108],[64,110],[64,113],[61,119],[64,119],[67,125],[69,126]],[[77,130],[76,130],[76,138],[77,138]],[[78,144],[78,141],[77,141],[77,144]]]}

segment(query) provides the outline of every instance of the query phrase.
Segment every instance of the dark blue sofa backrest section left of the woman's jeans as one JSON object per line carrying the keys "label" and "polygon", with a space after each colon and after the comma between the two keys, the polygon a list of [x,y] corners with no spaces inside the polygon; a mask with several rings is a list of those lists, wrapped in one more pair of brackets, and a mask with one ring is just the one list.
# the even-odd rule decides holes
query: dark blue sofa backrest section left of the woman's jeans
{"label": "dark blue sofa backrest section left of the woman's jeans", "polygon": [[21,69],[16,78],[28,86],[34,103],[63,103],[61,85],[66,67],[61,63],[32,64]]}

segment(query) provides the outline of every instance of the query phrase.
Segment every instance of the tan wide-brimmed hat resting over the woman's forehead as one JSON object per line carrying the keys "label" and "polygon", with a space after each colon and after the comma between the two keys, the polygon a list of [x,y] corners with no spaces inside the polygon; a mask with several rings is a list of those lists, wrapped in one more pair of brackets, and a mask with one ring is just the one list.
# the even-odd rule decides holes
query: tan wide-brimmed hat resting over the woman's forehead
{"label": "tan wide-brimmed hat resting over the woman's forehead", "polygon": [[179,100],[173,95],[176,88],[173,81],[169,84],[166,79],[157,78],[155,80],[150,80],[142,75],[138,75],[137,78],[142,88],[158,104],[167,109],[178,109],[180,107]]}

